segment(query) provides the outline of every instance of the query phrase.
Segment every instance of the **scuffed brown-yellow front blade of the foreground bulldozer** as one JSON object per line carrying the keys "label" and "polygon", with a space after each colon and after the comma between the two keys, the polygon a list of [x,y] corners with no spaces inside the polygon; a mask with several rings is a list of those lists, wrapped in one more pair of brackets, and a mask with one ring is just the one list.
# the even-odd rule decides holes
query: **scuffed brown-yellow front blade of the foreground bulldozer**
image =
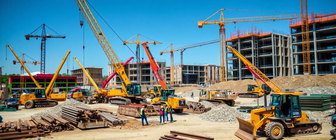
{"label": "scuffed brown-yellow front blade of the foreground bulldozer", "polygon": [[245,121],[243,119],[240,119],[236,117],[239,122],[239,128],[236,131],[235,135],[243,140],[253,140],[256,137],[256,132],[254,132],[253,125]]}

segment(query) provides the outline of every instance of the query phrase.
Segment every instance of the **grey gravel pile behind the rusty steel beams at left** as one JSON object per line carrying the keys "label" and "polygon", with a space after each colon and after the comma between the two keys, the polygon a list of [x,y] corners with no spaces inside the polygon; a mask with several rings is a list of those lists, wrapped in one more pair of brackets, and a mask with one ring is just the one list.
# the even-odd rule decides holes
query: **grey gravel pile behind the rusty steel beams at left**
{"label": "grey gravel pile behind the rusty steel beams at left", "polygon": [[42,112],[38,112],[36,114],[34,114],[33,116],[36,116],[38,118],[41,118],[40,115],[56,115],[56,116],[59,116],[60,113],[61,113],[61,109],[63,106],[66,106],[66,107],[75,107],[75,106],[82,106],[82,107],[90,107],[80,101],[76,101],[74,99],[67,99],[65,102],[61,103],[61,104],[58,104],[56,106],[53,106],[47,110],[44,110]]}

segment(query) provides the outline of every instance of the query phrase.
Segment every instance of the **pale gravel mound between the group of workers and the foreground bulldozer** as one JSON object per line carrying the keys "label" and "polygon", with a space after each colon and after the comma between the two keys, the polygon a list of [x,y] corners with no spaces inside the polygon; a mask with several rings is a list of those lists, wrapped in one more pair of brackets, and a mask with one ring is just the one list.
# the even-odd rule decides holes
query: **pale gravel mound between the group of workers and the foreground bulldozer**
{"label": "pale gravel mound between the group of workers and the foreground bulldozer", "polygon": [[196,118],[209,122],[237,123],[238,120],[236,119],[236,116],[244,120],[249,119],[249,116],[239,112],[227,104],[215,106],[211,108],[210,111],[199,114]]}

